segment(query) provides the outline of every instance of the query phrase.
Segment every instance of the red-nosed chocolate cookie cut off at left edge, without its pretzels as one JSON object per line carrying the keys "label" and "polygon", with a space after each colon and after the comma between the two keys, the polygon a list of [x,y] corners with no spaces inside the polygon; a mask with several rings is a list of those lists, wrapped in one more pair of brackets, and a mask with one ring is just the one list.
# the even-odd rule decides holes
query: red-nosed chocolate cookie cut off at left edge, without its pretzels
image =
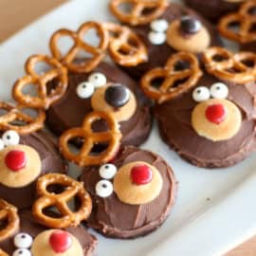
{"label": "red-nosed chocolate cookie cut off at left edge, without its pretzels", "polygon": [[45,132],[19,139],[17,133],[7,131],[0,142],[0,197],[19,210],[31,206],[38,176],[66,172],[67,164],[57,144]]}

